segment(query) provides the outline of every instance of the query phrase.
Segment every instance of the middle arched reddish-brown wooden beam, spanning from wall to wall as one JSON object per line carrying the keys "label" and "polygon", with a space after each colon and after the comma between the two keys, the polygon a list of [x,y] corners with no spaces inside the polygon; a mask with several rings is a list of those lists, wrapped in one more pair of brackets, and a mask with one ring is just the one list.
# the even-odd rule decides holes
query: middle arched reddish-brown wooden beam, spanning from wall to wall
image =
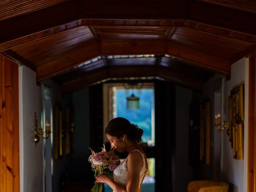
{"label": "middle arched reddish-brown wooden beam, spanning from wall to wall", "polygon": [[189,48],[174,41],[134,41],[134,42],[99,42],[80,50],[70,52],[63,57],[37,67],[37,80],[54,76],[97,56],[134,55],[134,54],[169,54],[184,61],[222,74],[230,74],[229,60]]}

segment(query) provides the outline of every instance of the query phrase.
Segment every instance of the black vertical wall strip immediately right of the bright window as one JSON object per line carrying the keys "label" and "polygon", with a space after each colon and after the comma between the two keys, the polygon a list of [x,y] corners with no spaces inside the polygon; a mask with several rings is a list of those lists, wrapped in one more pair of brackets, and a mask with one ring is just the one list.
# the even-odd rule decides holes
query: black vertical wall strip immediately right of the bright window
{"label": "black vertical wall strip immediately right of the bright window", "polygon": [[175,152],[175,86],[155,82],[156,191],[172,188]]}

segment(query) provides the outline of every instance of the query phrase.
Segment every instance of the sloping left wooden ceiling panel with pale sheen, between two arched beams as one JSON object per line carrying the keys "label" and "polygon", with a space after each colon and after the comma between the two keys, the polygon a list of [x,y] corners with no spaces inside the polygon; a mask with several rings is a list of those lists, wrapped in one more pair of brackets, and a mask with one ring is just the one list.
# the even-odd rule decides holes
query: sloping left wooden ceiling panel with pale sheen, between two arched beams
{"label": "sloping left wooden ceiling panel with pale sheen, between two arched beams", "polygon": [[72,28],[12,50],[36,66],[64,56],[68,50],[82,46],[94,38],[87,26]]}

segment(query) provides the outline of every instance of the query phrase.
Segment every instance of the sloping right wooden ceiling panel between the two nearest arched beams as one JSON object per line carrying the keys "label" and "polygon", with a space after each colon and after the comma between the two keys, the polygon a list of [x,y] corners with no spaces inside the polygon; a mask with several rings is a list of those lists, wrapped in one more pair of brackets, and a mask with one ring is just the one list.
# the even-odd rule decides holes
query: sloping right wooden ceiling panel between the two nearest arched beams
{"label": "sloping right wooden ceiling panel between the two nearest arched beams", "polygon": [[225,59],[232,59],[252,44],[189,28],[178,28],[172,40]]}

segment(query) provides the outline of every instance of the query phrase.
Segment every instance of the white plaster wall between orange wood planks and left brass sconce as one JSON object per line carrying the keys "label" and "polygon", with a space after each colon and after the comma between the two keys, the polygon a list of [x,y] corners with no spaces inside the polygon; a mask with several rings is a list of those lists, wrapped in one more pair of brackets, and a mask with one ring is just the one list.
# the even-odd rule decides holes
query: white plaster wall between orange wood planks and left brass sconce
{"label": "white plaster wall between orange wood planks and left brass sconce", "polygon": [[34,144],[34,113],[40,124],[42,91],[36,73],[19,67],[20,192],[42,192],[42,142]]}

